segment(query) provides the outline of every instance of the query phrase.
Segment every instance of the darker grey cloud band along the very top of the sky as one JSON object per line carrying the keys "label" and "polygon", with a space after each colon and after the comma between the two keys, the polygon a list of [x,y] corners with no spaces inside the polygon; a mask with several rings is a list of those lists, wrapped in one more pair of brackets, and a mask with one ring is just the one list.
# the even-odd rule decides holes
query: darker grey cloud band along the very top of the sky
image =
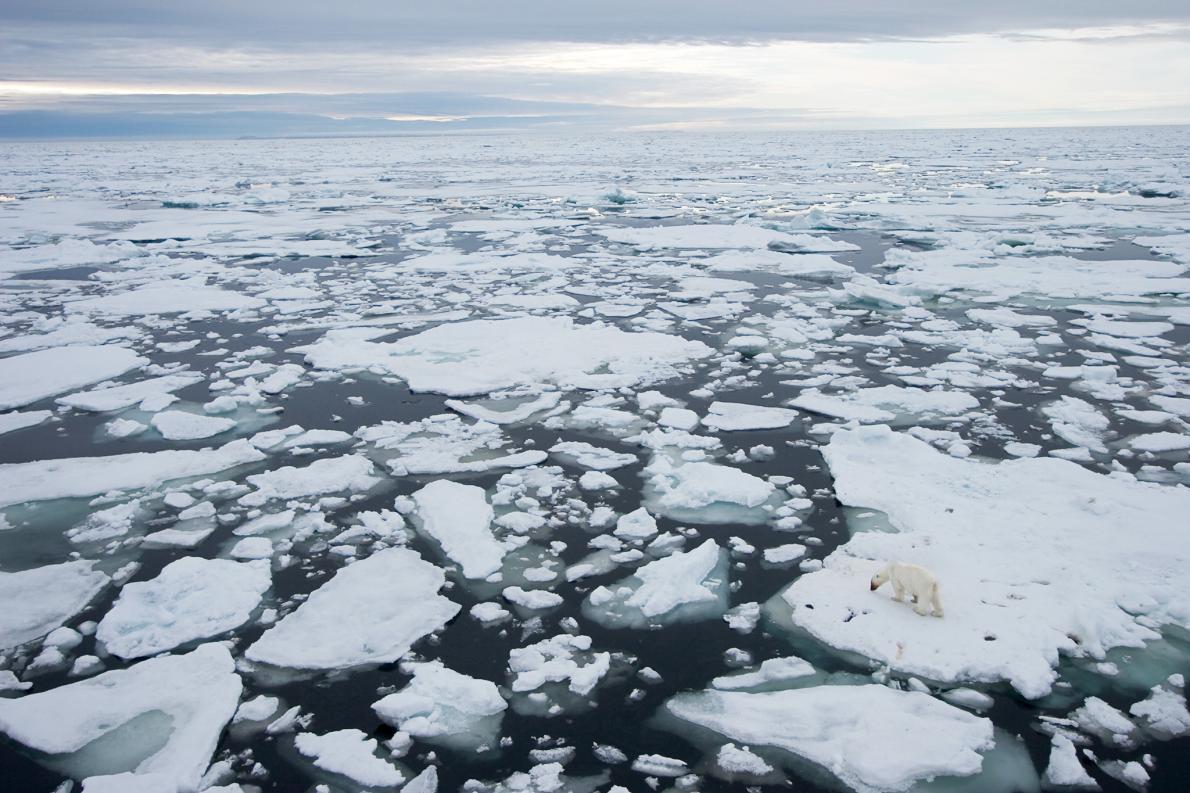
{"label": "darker grey cloud band along the very top of the sky", "polygon": [[857,40],[1190,20],[1184,0],[6,0],[10,37],[82,32],[206,46],[518,40]]}

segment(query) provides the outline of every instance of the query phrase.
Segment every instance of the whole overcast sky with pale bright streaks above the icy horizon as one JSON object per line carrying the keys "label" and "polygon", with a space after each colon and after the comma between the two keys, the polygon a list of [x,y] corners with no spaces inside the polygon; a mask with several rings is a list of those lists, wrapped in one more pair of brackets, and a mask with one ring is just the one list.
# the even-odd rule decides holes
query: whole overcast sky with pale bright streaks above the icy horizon
{"label": "whole overcast sky with pale bright streaks above the icy horizon", "polygon": [[1185,0],[0,2],[0,137],[1170,123]]}

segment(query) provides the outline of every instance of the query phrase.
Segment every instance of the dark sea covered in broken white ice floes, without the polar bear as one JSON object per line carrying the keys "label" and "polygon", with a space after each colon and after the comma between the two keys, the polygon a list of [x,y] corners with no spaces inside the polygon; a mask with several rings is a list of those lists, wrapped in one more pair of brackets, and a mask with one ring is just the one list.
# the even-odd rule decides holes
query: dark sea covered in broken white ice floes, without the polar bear
{"label": "dark sea covered in broken white ice floes, without the polar bear", "polygon": [[0,779],[1180,792],[1186,151],[0,145]]}

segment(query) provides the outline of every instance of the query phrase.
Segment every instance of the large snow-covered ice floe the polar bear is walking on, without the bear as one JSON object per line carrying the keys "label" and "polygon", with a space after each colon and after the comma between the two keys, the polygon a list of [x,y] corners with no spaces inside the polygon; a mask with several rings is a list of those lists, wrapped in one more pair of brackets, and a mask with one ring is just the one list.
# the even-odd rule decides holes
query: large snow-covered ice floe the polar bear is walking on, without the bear
{"label": "large snow-covered ice floe the polar bear is walking on, without the bear", "polygon": [[[839,500],[894,529],[859,531],[781,594],[795,625],[837,649],[1038,698],[1063,654],[1102,658],[1163,624],[1190,627],[1190,491],[1065,460],[958,460],[883,425],[835,432],[823,456]],[[946,618],[870,593],[887,560],[931,569]]]}

